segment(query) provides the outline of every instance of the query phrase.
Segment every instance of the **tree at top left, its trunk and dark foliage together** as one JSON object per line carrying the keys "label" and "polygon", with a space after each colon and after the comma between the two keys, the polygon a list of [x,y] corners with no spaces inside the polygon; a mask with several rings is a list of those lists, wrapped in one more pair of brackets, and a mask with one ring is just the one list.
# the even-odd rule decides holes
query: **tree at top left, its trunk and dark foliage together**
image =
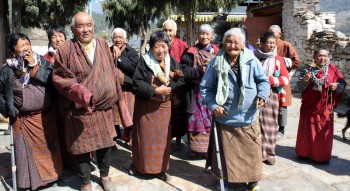
{"label": "tree at top left, its trunk and dark foliage together", "polygon": [[12,32],[21,27],[43,27],[51,24],[65,26],[78,11],[83,11],[88,0],[0,0],[0,61],[5,60],[6,36],[10,33],[9,3],[12,3]]}

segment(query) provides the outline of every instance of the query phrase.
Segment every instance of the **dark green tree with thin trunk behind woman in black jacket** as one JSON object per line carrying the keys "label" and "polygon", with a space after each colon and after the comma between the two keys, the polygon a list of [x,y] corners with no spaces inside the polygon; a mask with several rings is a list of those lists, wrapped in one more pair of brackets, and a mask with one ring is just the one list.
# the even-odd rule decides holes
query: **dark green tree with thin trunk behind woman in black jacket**
{"label": "dark green tree with thin trunk behind woman in black jacket", "polygon": [[165,0],[104,0],[102,8],[111,26],[124,28],[129,34],[141,33],[142,54],[147,43],[149,21],[170,14],[169,3]]}

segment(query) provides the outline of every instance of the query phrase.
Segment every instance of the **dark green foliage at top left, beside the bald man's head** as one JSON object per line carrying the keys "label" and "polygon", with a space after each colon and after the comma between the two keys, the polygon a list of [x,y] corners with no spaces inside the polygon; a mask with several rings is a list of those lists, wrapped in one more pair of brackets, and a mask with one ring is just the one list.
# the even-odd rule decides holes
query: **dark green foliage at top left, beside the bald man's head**
{"label": "dark green foliage at top left, beside the bald man's head", "polygon": [[56,23],[66,25],[78,11],[83,11],[88,0],[20,0],[22,25],[43,27]]}

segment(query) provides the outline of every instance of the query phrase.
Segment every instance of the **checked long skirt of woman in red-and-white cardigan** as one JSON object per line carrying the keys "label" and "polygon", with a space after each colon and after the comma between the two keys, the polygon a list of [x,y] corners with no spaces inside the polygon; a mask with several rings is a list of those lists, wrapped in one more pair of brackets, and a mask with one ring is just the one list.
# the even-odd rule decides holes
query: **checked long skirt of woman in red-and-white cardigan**
{"label": "checked long skirt of woman in red-and-white cardigan", "polygon": [[275,89],[266,101],[266,105],[260,108],[259,122],[261,127],[262,160],[275,159],[276,140],[278,132],[278,94]]}

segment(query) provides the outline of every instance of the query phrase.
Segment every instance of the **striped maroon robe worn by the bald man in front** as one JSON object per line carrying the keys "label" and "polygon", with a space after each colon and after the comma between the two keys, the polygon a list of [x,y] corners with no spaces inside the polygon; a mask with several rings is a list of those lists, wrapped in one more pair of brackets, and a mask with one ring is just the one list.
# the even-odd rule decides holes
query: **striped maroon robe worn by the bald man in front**
{"label": "striped maroon robe worn by the bald man in front", "polygon": [[106,41],[96,39],[93,65],[77,40],[66,41],[57,53],[53,83],[64,96],[66,143],[71,153],[114,145],[113,107],[117,101],[123,126],[132,125]]}

